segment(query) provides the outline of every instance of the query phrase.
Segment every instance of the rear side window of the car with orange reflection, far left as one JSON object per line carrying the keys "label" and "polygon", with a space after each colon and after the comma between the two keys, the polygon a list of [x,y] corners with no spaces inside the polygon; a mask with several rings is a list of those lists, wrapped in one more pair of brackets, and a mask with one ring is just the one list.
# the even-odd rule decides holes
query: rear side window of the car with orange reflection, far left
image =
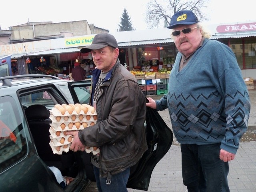
{"label": "rear side window of the car with orange reflection, far left", "polygon": [[15,101],[0,97],[0,172],[21,160],[27,152],[27,142]]}

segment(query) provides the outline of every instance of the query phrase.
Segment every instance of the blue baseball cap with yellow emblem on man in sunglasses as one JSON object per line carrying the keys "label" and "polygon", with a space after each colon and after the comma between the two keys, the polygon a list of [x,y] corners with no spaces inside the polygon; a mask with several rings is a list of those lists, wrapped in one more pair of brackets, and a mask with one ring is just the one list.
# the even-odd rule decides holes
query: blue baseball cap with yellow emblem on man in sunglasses
{"label": "blue baseball cap with yellow emblem on man in sunglasses", "polygon": [[171,18],[171,25],[168,26],[168,29],[173,29],[177,25],[191,25],[198,23],[198,18],[190,10],[182,10],[176,12]]}

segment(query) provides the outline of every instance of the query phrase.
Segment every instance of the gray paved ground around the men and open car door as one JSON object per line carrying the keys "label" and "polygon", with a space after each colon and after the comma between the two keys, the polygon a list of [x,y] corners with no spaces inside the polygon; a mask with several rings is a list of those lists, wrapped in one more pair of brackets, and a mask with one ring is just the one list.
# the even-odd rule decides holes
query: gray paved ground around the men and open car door
{"label": "gray paved ground around the men and open car door", "polygon": [[[240,142],[235,159],[229,163],[228,182],[231,192],[256,192],[256,89],[250,90],[249,94],[252,107],[248,131]],[[171,128],[167,110],[159,113]],[[182,184],[180,144],[174,138],[170,150],[152,172],[148,192],[186,191]],[[84,192],[98,192],[96,183],[92,182]],[[128,189],[128,192],[143,191]]]}

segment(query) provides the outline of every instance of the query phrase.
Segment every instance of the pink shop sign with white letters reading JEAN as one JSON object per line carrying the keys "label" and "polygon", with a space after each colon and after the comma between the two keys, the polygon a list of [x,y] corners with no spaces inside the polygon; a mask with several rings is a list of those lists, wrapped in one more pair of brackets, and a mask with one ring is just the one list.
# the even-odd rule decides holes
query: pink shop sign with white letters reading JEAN
{"label": "pink shop sign with white letters reading JEAN", "polygon": [[217,26],[218,33],[243,32],[243,31],[254,31],[254,30],[256,30],[256,22]]}

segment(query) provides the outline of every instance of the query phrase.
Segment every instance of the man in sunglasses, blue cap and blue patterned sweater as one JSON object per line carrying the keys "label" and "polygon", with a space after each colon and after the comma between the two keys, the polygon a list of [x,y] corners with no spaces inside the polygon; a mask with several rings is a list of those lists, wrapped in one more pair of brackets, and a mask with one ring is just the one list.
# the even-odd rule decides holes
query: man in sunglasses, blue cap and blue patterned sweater
{"label": "man in sunglasses, blue cap and blue patterned sweater", "polygon": [[168,93],[146,104],[168,108],[180,143],[188,192],[229,192],[228,162],[247,129],[250,100],[232,50],[204,30],[190,10],[176,12],[168,27],[178,49]]}

